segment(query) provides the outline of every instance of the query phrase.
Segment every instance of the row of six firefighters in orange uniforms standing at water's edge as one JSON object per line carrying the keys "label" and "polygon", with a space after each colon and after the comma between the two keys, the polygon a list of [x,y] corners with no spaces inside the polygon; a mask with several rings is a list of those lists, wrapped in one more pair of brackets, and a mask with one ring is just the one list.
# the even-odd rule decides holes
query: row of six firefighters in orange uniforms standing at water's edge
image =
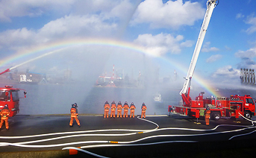
{"label": "row of six firefighters in orange uniforms standing at water's edge", "polygon": [[[131,113],[130,113],[130,118],[133,117],[134,118],[134,111],[136,109],[134,103],[132,102],[130,107],[128,105],[128,102],[125,101],[125,104],[122,106],[122,103],[121,101],[118,102],[117,106],[116,106],[116,103],[115,101],[113,101],[111,103],[111,107],[110,107],[110,104],[106,101],[105,104],[104,104],[104,118],[108,118],[108,112],[109,112],[109,109],[111,110],[111,113],[110,113],[110,118],[122,118],[122,109],[124,110],[124,113],[123,113],[123,117],[125,118],[128,118],[128,110],[130,109]],[[117,109],[117,115],[116,115],[116,109]],[[147,110],[147,107],[146,107],[146,104],[143,103],[143,105],[141,106],[141,118],[146,118],[146,110]]]}

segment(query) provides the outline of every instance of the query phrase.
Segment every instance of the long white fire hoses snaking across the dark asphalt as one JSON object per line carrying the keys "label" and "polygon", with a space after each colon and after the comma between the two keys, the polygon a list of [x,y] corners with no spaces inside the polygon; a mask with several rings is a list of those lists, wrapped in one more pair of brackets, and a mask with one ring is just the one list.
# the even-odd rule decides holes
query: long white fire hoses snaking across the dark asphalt
{"label": "long white fire hoses snaking across the dark asphalt", "polygon": [[[240,113],[239,113],[240,114]],[[242,116],[240,114],[240,116]],[[242,116],[243,117],[243,116]],[[139,117],[138,117],[139,118]],[[245,117],[243,117],[245,118]],[[143,121],[149,121],[143,118],[139,118]],[[246,118],[246,120],[249,120]],[[241,130],[247,130],[251,128],[255,128],[254,123],[256,121],[252,121],[252,125],[250,126],[238,126],[238,125],[231,125],[231,124],[219,124],[216,127],[212,129],[207,129],[207,130],[201,130],[201,129],[191,129],[191,128],[178,128],[178,127],[167,127],[167,128],[160,128],[159,125],[156,124],[153,121],[149,121],[152,124],[155,124],[157,127],[151,130],[128,130],[128,129],[108,129],[108,130],[85,130],[85,131],[76,131],[76,132],[63,132],[63,133],[47,133],[47,134],[40,134],[40,135],[33,135],[33,136],[0,136],[0,139],[24,139],[24,138],[32,138],[32,137],[40,137],[40,136],[54,136],[54,135],[63,135],[63,134],[69,134],[69,133],[79,133],[78,135],[71,135],[71,136],[59,136],[59,137],[54,137],[51,139],[39,139],[39,140],[34,140],[34,141],[28,141],[28,142],[16,142],[16,143],[10,143],[10,142],[0,142],[0,146],[7,146],[7,145],[12,145],[12,146],[17,146],[17,147],[23,147],[23,148],[51,148],[51,147],[59,147],[59,146],[67,146],[67,145],[79,145],[79,144],[90,144],[90,143],[110,143],[107,145],[87,145],[87,146],[81,146],[81,149],[79,151],[86,152],[87,154],[90,154],[89,151],[84,151],[82,148],[99,148],[99,147],[110,147],[110,146],[134,146],[134,145],[156,145],[156,144],[162,144],[162,143],[170,143],[170,142],[197,142],[197,141],[167,141],[167,142],[152,142],[152,143],[145,143],[145,144],[132,144],[135,142],[140,142],[146,139],[152,139],[152,138],[157,138],[157,137],[172,137],[172,136],[205,136],[205,135],[213,135],[213,134],[219,134],[219,133],[231,133],[231,132],[237,132]],[[233,126],[233,127],[244,127],[242,129],[238,130],[227,130],[227,131],[222,131],[222,132],[215,132],[215,133],[201,133],[201,134],[184,134],[184,135],[154,135],[154,136],[146,136],[141,139],[136,139],[132,141],[127,141],[127,142],[116,142],[116,141],[83,141],[83,142],[69,142],[69,143],[62,143],[62,144],[56,144],[56,145],[28,145],[31,143],[36,143],[36,142],[46,142],[46,141],[51,141],[51,140],[56,140],[56,139],[65,139],[65,138],[70,138],[70,137],[76,137],[76,136],[131,136],[131,135],[136,135],[136,134],[141,134],[141,133],[153,133],[155,131],[160,131],[160,130],[191,130],[191,131],[213,131],[216,130],[218,127],[221,126]],[[104,131],[129,131],[132,133],[121,133],[121,134],[81,134],[81,133],[93,133],[93,132],[104,132]],[[254,133],[256,130],[250,132]],[[246,134],[240,134],[237,136],[244,136],[248,135],[250,133]],[[232,136],[230,139],[233,139],[234,137],[237,136]],[[230,140],[228,139],[228,140]],[[66,147],[63,148],[63,150],[67,149],[74,149],[74,147]],[[76,150],[78,148],[75,148]],[[98,157],[98,156],[97,156]]]}

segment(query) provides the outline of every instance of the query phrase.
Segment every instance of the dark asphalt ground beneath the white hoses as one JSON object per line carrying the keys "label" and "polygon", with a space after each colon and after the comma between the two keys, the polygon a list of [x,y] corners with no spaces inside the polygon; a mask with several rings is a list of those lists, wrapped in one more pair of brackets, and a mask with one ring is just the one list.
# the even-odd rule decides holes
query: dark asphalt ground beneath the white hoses
{"label": "dark asphalt ground beneath the white hoses", "polygon": [[[146,119],[140,119],[80,115],[78,119],[81,127],[75,122],[69,127],[70,116],[67,115],[14,116],[9,119],[10,130],[4,126],[1,128],[0,156],[93,157],[81,151],[75,155],[69,155],[69,150],[62,151],[66,147],[82,147],[104,157],[245,157],[256,149],[255,126],[244,118],[210,120],[209,126],[205,125],[204,118],[197,121],[185,116],[146,116]],[[49,136],[6,139],[7,136],[40,134]],[[87,148],[88,145],[93,147]]]}

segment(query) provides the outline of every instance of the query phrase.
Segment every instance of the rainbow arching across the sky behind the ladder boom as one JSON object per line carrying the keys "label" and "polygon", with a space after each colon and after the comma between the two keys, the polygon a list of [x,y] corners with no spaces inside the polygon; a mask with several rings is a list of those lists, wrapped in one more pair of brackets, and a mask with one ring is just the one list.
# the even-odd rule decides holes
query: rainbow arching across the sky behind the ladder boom
{"label": "rainbow arching across the sky behind the ladder boom", "polygon": [[[11,55],[10,57],[6,57],[2,60],[0,60],[0,69],[3,69],[4,66],[6,67],[10,63],[14,63],[17,60],[22,60],[26,57],[30,57],[32,54],[44,54],[41,55],[41,57],[46,56],[48,54],[53,54],[57,51],[61,51],[65,48],[75,47],[78,45],[105,45],[109,47],[115,47],[115,48],[126,48],[132,51],[136,51],[142,54],[147,54],[152,57],[160,58],[160,60],[164,60],[165,62],[169,63],[170,65],[174,66],[175,69],[178,69],[179,71],[183,72],[185,75],[187,74],[187,69],[184,66],[182,66],[180,63],[169,59],[167,57],[161,57],[157,56],[155,54],[152,54],[152,52],[147,51],[146,48],[143,48],[140,45],[136,45],[132,42],[123,42],[118,41],[114,39],[65,39],[65,40],[59,40],[57,42],[51,42],[49,44],[45,45],[37,45],[31,48],[26,48],[25,50],[17,51],[16,54]],[[34,60],[37,59],[34,58]],[[31,61],[31,60],[28,60]],[[25,63],[28,63],[25,62]],[[199,85],[201,85],[207,92],[209,92],[213,96],[221,96],[218,92],[216,92],[215,88],[213,86],[210,86],[210,83],[208,83],[206,80],[203,80],[199,76],[194,75],[193,80],[196,81]]]}

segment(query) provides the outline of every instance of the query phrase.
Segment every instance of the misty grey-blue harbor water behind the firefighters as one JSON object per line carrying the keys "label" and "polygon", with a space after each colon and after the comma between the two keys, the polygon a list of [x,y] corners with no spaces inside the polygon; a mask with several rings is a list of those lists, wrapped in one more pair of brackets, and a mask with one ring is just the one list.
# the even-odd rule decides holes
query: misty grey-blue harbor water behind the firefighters
{"label": "misty grey-blue harbor water behind the firefighters", "polygon": [[[4,86],[1,84],[0,86]],[[128,101],[136,106],[135,115],[140,115],[140,107],[146,104],[146,115],[169,114],[169,105],[178,105],[181,101],[179,92],[181,89],[172,87],[148,87],[148,88],[118,88],[88,86],[79,83],[72,84],[13,84],[14,88],[25,89],[27,98],[20,99],[19,115],[45,115],[45,114],[68,114],[71,104],[78,104],[78,113],[102,114],[104,102],[122,104]],[[193,89],[191,98],[194,99],[203,89]],[[222,95],[252,95],[256,98],[255,91],[240,89],[219,89]],[[154,95],[160,93],[162,102],[154,101]],[[205,93],[205,97],[210,94]],[[20,94],[22,96],[22,94]]]}

